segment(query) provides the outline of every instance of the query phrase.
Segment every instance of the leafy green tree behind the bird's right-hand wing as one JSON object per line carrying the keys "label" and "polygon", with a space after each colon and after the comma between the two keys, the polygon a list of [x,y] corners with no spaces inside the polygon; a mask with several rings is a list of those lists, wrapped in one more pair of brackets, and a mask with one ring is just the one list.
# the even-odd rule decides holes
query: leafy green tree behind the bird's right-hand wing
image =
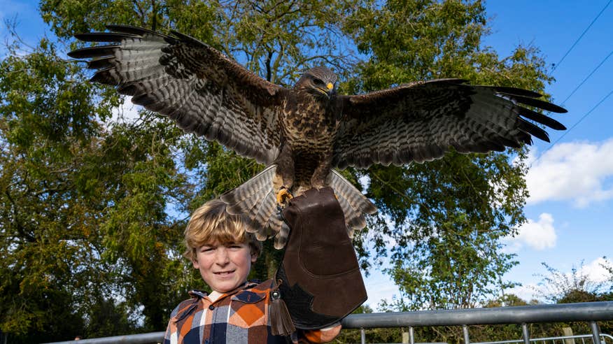
{"label": "leafy green tree behind the bird's right-hand wing", "polygon": [[[519,47],[499,59],[481,47],[486,24],[482,1],[372,1],[347,20],[347,31],[369,56],[348,90],[465,78],[542,91],[551,77],[538,50]],[[376,248],[382,252],[386,239],[392,247],[388,273],[402,292],[397,309],[474,307],[510,286],[498,283],[516,264],[501,252],[500,238],[525,220],[525,155],[525,149],[451,152],[435,162],[363,173],[381,210],[370,225]]]}

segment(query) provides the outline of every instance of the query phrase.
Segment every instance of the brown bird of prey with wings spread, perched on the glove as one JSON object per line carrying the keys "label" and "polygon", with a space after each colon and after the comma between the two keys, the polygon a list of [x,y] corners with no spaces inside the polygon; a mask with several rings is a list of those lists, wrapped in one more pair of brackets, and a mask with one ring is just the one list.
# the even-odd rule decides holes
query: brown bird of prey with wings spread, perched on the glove
{"label": "brown bird of prey with wings spread, perched on the glove", "polygon": [[[374,205],[335,169],[401,165],[458,152],[502,151],[549,141],[565,129],[551,117],[566,110],[513,87],[467,85],[439,79],[357,95],[336,92],[337,76],[324,66],[306,71],[294,87],[256,76],[218,50],[171,31],[108,25],[110,32],[77,34],[111,43],[69,52],[90,59],[92,80],[114,85],[132,102],[166,115],[181,129],[218,141],[265,169],[221,196],[259,240],[275,236],[283,248],[288,227],[279,205],[311,187],[334,189],[348,231],[365,227]],[[523,105],[523,106],[522,106]]]}

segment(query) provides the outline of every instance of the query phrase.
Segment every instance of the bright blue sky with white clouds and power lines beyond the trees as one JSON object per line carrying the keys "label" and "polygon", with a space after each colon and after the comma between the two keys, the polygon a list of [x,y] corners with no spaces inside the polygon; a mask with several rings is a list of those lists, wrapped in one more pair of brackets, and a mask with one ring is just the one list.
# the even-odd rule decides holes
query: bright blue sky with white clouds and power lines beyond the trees
{"label": "bright blue sky with white clouds and power lines beyond the trees", "polygon": [[[549,64],[558,64],[610,1],[488,1],[492,33],[484,44],[500,57],[508,56],[517,45],[535,45]],[[46,31],[36,6],[36,1],[6,0],[0,7],[2,20],[17,15],[17,31],[31,44]],[[612,32],[613,3],[558,64],[553,73],[556,81],[547,86],[554,102],[568,109],[556,119],[572,129],[551,131],[551,143],[537,141],[530,152],[532,168],[526,180],[531,196],[525,208],[529,222],[519,236],[509,238],[505,249],[516,253],[520,264],[504,280],[523,284],[508,292],[523,299],[534,296],[533,287],[542,280],[539,274],[547,275],[541,262],[570,272],[583,261],[584,273],[599,280],[605,276],[598,268],[599,259],[613,255],[613,94],[605,99],[613,92]],[[1,27],[0,37],[5,39],[6,34]],[[371,272],[366,278],[367,303],[376,309],[381,299],[390,300],[397,289],[376,268]]]}

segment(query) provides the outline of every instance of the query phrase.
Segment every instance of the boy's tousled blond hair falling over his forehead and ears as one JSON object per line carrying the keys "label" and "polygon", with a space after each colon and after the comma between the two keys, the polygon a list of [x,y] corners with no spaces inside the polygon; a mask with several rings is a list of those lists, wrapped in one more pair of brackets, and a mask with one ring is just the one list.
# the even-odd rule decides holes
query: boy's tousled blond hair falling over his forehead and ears
{"label": "boy's tousled blond hair falling over his forehead and ears", "polygon": [[196,251],[203,245],[218,243],[249,243],[251,254],[260,255],[262,243],[255,234],[245,230],[244,221],[239,215],[230,215],[225,211],[225,203],[212,199],[197,208],[188,227],[185,228],[185,258],[194,261]]}

